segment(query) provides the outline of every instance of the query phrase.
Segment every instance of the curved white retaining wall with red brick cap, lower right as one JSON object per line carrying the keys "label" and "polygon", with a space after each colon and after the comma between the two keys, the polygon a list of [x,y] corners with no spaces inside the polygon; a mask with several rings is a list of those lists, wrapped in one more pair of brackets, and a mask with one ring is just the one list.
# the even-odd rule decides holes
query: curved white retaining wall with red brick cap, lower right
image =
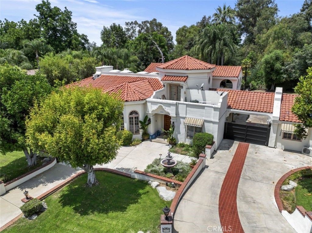
{"label": "curved white retaining wall with red brick cap, lower right", "polygon": [[312,212],[308,212],[302,206],[296,206],[295,211],[290,214],[284,210],[282,201],[280,199],[280,188],[287,177],[291,174],[294,174],[297,171],[304,169],[312,169],[311,166],[296,168],[290,170],[286,174],[284,174],[279,181],[275,185],[274,189],[274,198],[277,205],[277,208],[284,216],[284,218],[288,221],[290,226],[292,226],[297,232],[300,233],[310,233],[312,232]]}

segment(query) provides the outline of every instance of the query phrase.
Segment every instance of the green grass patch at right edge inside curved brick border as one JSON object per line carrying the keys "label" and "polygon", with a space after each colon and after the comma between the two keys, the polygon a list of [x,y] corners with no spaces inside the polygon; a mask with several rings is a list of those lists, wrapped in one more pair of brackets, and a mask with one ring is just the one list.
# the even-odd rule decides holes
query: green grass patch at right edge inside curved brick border
{"label": "green grass patch at right edge inside curved brick border", "polygon": [[306,211],[312,211],[312,178],[298,180],[295,188],[296,205],[303,206]]}

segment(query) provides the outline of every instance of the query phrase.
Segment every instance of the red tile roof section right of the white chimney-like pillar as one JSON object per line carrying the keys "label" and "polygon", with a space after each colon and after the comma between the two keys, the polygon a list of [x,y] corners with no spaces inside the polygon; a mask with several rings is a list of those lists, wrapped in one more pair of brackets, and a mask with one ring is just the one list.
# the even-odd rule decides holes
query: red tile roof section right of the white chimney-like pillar
{"label": "red tile roof section right of the white chimney-like pillar", "polygon": [[280,121],[290,121],[301,123],[297,116],[291,112],[295,97],[298,95],[282,94],[282,102],[280,104]]}

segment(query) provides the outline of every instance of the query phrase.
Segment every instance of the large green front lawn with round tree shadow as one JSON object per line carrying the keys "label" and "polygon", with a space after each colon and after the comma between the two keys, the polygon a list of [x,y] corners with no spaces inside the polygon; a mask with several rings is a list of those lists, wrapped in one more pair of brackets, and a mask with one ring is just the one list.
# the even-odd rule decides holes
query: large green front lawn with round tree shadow
{"label": "large green front lawn with round tree shadow", "polygon": [[20,218],[3,232],[159,232],[160,215],[171,202],[144,181],[96,172],[99,185],[86,187],[87,174],[45,199],[48,209]]}

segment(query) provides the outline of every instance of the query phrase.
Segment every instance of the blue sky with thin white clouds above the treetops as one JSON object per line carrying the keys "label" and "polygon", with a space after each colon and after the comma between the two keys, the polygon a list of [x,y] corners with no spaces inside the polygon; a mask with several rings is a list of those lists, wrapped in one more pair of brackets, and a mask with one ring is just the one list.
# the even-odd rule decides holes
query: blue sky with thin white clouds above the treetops
{"label": "blue sky with thin white clouds above the treetops", "polygon": [[[40,0],[0,0],[0,19],[9,21],[29,21],[37,14],[35,9]],[[120,24],[128,21],[138,22],[156,18],[168,27],[175,40],[175,32],[183,25],[196,24],[206,15],[212,15],[215,9],[224,3],[235,6],[236,1],[154,1],[154,0],[127,0],[127,1],[101,1],[101,0],[50,0],[51,6],[57,6],[62,11],[64,7],[72,12],[72,21],[77,23],[80,34],[88,36],[90,42],[101,44],[100,32],[103,26],[112,23]],[[300,12],[304,0],[276,0],[279,16],[288,16]]]}

